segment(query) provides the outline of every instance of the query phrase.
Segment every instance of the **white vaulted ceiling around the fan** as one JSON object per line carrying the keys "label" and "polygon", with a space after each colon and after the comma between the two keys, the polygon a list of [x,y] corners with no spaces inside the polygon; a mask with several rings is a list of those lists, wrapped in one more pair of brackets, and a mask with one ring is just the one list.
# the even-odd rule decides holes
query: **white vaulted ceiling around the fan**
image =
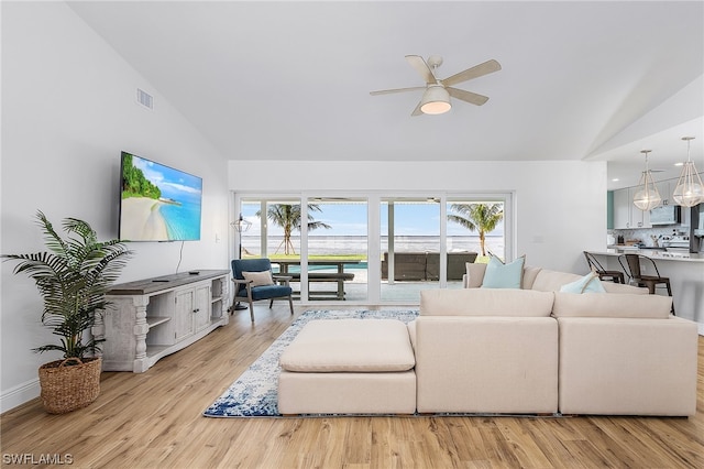
{"label": "white vaulted ceiling around the fan", "polygon": [[[230,160],[607,160],[614,188],[693,135],[704,167],[702,1],[69,4]],[[370,96],[424,85],[408,54],[503,69],[410,117],[421,91]]]}

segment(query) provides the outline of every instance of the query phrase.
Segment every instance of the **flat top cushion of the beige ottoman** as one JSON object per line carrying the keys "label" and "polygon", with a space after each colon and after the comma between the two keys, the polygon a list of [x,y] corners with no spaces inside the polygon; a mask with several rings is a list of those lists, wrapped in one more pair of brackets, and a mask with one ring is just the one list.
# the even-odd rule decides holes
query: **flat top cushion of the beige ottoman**
{"label": "flat top cushion of the beige ottoman", "polygon": [[279,358],[298,372],[406,371],[416,366],[406,325],[396,319],[316,319]]}

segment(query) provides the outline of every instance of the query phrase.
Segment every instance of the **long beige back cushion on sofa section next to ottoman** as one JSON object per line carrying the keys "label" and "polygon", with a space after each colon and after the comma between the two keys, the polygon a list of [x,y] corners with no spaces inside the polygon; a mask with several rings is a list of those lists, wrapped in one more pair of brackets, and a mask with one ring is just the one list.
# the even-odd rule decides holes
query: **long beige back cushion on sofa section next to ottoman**
{"label": "long beige back cushion on sofa section next to ottoman", "polygon": [[519,288],[421,290],[421,316],[544,317],[554,294]]}

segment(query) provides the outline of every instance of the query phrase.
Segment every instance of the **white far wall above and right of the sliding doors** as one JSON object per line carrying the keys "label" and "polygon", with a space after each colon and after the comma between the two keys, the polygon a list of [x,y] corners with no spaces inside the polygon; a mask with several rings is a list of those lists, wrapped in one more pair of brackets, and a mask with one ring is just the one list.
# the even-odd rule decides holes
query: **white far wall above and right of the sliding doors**
{"label": "white far wall above and right of the sliding doors", "polygon": [[[244,176],[250,174],[263,176]],[[582,251],[606,248],[605,162],[238,161],[230,162],[230,188],[258,194],[513,192],[516,254],[526,254],[528,264],[586,273]]]}

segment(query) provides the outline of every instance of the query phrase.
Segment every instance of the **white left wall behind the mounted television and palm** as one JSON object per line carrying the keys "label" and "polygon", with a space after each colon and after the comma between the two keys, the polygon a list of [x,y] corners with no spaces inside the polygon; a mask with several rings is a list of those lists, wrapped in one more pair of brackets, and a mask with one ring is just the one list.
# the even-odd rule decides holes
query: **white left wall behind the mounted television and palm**
{"label": "white left wall behind the mounted television and palm", "polygon": [[[43,250],[37,209],[56,225],[81,218],[100,239],[117,238],[125,150],[204,178],[201,241],[184,244],[179,271],[228,269],[224,159],[64,3],[1,7],[0,252]],[[135,102],[138,87],[155,97],[154,111]],[[182,243],[130,247],[121,281],[176,272]],[[37,396],[37,368],[58,358],[31,351],[55,339],[40,324],[34,284],[12,268],[2,264],[1,411]]]}

